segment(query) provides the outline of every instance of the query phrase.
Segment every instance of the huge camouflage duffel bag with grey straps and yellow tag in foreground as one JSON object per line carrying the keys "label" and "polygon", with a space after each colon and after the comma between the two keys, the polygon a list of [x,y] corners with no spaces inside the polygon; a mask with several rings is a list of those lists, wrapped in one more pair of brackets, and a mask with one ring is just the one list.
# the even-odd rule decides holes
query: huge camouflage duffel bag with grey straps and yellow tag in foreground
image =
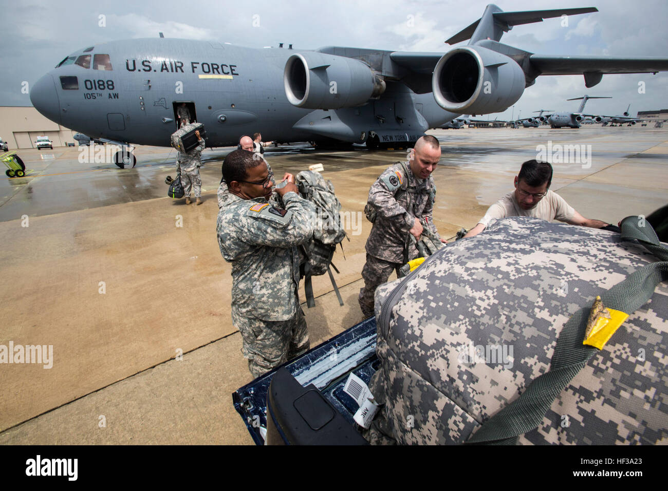
{"label": "huge camouflage duffel bag with grey straps and yellow tag in foreground", "polygon": [[621,230],[505,218],[379,287],[367,440],[668,442],[668,249]]}

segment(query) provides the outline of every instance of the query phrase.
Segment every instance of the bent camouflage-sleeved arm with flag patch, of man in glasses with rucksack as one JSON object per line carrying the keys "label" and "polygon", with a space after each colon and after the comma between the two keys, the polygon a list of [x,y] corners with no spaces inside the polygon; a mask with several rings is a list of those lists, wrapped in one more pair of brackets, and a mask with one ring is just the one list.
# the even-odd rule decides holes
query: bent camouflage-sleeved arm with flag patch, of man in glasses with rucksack
{"label": "bent camouflage-sleeved arm with flag patch, of man in glasses with rucksack", "polygon": [[293,247],[311,240],[315,219],[313,203],[299,197],[296,192],[285,193],[283,202],[285,209],[249,202],[244,220],[239,224],[243,240],[271,247]]}

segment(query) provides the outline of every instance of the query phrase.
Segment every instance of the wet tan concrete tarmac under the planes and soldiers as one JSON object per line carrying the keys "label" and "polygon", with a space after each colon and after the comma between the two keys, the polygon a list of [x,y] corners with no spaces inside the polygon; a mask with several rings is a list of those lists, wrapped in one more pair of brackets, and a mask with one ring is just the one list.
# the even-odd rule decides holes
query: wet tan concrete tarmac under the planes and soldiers
{"label": "wet tan concrete tarmac under the planes and soldiers", "polygon": [[[584,216],[616,223],[668,202],[666,129],[431,133],[442,142],[434,222],[445,237],[474,226],[543,147],[554,151],[552,190]],[[585,147],[558,162],[564,145]],[[230,150],[202,154],[202,206],[166,197],[164,179],[175,174],[169,148],[139,147],[136,168],[124,170],[95,162],[96,150],[92,163],[77,148],[19,151],[32,172],[0,178],[0,344],[53,345],[54,359],[51,369],[0,365],[0,444],[252,443],[231,403],[251,375],[215,236],[215,190]],[[351,241],[345,260],[340,252],[334,259],[345,305],[327,277],[314,280],[317,307],[305,311],[315,345],[361,320],[371,229],[361,212],[369,186],[405,150],[298,144],[265,156],[279,176],[322,163],[347,213]]]}

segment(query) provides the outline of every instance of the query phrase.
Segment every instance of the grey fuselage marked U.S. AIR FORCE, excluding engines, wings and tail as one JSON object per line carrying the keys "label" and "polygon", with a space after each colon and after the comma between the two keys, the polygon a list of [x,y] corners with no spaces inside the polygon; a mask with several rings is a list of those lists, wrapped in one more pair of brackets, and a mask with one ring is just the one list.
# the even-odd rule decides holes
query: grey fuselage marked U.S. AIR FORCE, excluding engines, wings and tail
{"label": "grey fuselage marked U.S. AIR FORCE, excluding engines, wings and tail", "polygon": [[[183,102],[191,120],[206,127],[206,146],[235,145],[254,132],[277,142],[319,140],[293,128],[313,112],[293,106],[285,94],[283,71],[295,52],[186,39],[112,41],[67,57],[37,81],[31,100],[67,128],[132,144],[169,146]],[[431,93],[415,94],[392,81],[378,100],[339,111],[349,112],[346,124],[359,134],[424,132],[428,128],[418,128],[415,118],[399,117],[411,110],[428,128],[458,116],[440,108]]]}

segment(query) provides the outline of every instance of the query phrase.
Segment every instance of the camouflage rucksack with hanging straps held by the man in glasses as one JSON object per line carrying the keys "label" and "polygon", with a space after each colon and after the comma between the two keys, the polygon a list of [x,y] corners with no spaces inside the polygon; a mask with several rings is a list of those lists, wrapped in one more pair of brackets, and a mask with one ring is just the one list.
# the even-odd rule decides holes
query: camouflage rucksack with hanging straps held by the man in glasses
{"label": "camouflage rucksack with hanging straps held by the man in glasses", "polygon": [[[302,198],[315,204],[316,216],[313,217],[313,240],[305,244],[307,261],[301,265],[301,276],[304,278],[304,290],[308,307],[315,306],[311,277],[329,273],[334,291],[343,305],[341,294],[334,281],[330,266],[339,273],[332,263],[337,244],[346,237],[341,226],[341,203],[334,194],[334,185],[325,181],[320,172],[303,170],[297,174],[297,187]],[[350,239],[349,239],[350,240]],[[343,251],[343,245],[341,245]],[[345,257],[344,257],[345,259]]]}

